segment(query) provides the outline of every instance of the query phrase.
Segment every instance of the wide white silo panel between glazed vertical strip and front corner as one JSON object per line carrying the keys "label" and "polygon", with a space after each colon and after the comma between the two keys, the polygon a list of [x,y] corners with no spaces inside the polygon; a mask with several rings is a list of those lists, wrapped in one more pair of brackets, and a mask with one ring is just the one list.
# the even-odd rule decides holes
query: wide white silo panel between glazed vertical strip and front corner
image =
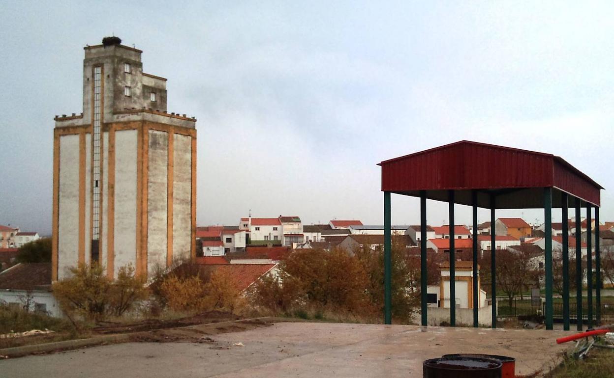
{"label": "wide white silo panel between glazed vertical strip and front corner", "polygon": [[137,130],[115,132],[114,274],[136,266]]}

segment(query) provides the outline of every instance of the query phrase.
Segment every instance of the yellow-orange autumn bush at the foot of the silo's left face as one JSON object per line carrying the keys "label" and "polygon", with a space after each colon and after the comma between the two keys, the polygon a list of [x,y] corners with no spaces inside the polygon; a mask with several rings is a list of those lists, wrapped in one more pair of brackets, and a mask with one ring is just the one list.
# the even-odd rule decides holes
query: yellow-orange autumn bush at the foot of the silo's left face
{"label": "yellow-orange autumn bush at the foot of the silo's left face", "polygon": [[98,264],[91,267],[81,264],[71,268],[71,273],[71,278],[52,285],[53,295],[71,319],[74,315],[91,320],[122,316],[149,295],[144,281],[136,278],[130,264],[119,269],[115,281],[107,278],[103,266]]}

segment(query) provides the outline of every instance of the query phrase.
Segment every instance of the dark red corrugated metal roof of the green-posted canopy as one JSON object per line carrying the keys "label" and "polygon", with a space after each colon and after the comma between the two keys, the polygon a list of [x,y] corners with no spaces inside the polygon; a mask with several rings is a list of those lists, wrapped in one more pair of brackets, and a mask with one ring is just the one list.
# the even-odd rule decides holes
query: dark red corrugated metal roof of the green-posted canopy
{"label": "dark red corrugated metal roof of the green-posted canopy", "polygon": [[[552,154],[486,143],[461,142],[379,163],[382,191],[448,200],[456,191],[456,203],[472,204],[472,189],[478,191],[478,206],[489,208],[491,194],[497,208],[542,208],[543,188],[554,187],[594,205],[600,204],[602,186],[577,168]],[[553,206],[560,207],[559,191]],[[570,206],[574,198],[570,198]]]}

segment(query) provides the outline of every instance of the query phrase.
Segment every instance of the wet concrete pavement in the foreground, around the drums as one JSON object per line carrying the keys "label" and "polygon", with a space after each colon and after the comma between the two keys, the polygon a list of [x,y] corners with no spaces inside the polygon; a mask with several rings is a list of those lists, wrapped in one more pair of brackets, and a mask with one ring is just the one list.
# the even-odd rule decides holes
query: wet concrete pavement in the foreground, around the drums
{"label": "wet concrete pavement in the foreground, around the drums", "polygon": [[[0,361],[2,377],[396,377],[422,376],[446,353],[516,358],[516,373],[558,363],[573,332],[489,328],[276,323],[211,336],[214,341],[131,342]],[[244,346],[235,346],[241,342]]]}

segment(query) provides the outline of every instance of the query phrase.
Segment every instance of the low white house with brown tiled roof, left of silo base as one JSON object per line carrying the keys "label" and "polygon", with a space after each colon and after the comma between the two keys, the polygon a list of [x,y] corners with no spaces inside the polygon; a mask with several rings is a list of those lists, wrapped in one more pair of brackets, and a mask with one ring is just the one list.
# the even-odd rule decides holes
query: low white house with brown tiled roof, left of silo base
{"label": "low white house with brown tiled roof, left of silo base", "polygon": [[18,263],[2,271],[0,301],[32,312],[63,316],[51,292],[51,263]]}

